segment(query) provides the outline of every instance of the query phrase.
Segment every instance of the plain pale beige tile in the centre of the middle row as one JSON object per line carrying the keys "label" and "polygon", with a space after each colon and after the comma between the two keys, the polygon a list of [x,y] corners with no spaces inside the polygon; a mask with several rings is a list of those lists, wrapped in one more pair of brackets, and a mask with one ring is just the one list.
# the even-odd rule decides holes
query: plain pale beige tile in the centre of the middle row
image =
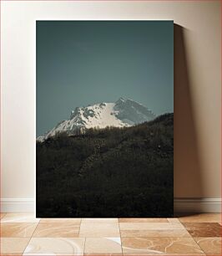
{"label": "plain pale beige tile in the centre of the middle row", "polygon": [[79,237],[119,237],[119,223],[81,223]]}

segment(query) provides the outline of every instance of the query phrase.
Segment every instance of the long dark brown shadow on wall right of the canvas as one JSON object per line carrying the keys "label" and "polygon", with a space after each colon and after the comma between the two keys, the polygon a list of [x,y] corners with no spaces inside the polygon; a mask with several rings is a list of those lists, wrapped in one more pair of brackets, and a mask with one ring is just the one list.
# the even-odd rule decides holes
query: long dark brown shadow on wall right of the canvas
{"label": "long dark brown shadow on wall right of the canvas", "polygon": [[188,29],[174,24],[174,198],[203,194],[192,84],[184,44],[186,33]]}

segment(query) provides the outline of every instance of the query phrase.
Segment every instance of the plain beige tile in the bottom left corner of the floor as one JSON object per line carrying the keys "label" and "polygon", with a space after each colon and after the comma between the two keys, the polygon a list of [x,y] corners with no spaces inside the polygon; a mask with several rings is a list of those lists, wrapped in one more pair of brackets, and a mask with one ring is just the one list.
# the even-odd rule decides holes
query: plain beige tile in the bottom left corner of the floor
{"label": "plain beige tile in the bottom left corner of the floor", "polygon": [[23,253],[30,238],[1,238],[1,255],[3,253]]}

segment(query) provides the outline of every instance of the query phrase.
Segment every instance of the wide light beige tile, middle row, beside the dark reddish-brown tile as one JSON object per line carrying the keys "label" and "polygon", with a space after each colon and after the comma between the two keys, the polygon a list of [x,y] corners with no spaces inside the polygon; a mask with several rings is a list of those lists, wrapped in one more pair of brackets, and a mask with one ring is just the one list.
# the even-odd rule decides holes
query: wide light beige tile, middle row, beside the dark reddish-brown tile
{"label": "wide light beige tile, middle row, beside the dark reddish-brown tile", "polygon": [[190,237],[181,223],[119,223],[121,237]]}

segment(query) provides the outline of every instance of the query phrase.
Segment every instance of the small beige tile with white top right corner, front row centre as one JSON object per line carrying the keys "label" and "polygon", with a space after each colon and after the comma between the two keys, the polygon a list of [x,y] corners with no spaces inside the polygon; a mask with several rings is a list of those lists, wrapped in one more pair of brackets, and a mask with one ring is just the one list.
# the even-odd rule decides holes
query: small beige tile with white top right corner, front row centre
{"label": "small beige tile with white top right corner, front row centre", "polygon": [[120,238],[86,238],[84,253],[122,253]]}

